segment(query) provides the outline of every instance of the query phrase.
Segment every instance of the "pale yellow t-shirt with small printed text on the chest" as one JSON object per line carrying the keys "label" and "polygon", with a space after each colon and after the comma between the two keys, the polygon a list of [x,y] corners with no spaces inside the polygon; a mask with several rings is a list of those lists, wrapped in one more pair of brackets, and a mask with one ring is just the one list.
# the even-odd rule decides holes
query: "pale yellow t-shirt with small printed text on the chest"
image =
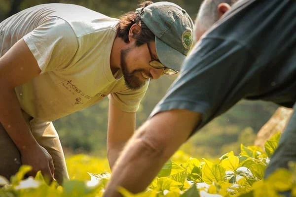
{"label": "pale yellow t-shirt with small printed text on the chest", "polygon": [[118,19],[73,4],[50,3],[25,9],[0,23],[0,56],[23,38],[41,69],[39,76],[15,88],[22,109],[52,121],[109,95],[125,112],[139,108],[148,83],[126,87],[114,76],[110,54]]}

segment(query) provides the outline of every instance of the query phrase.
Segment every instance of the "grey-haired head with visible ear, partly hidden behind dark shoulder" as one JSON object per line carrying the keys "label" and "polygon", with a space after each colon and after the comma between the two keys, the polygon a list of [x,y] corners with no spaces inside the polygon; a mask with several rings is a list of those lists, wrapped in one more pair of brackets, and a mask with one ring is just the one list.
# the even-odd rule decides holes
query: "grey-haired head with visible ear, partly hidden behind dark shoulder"
{"label": "grey-haired head with visible ear, partly hidden behind dark shoulder", "polygon": [[195,40],[210,29],[237,0],[204,0],[195,20]]}

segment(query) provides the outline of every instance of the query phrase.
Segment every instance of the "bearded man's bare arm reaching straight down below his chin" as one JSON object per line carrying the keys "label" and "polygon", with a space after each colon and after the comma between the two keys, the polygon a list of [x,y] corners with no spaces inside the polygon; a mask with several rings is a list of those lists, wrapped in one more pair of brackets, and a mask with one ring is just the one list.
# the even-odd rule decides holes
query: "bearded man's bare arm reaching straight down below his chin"
{"label": "bearded man's bare arm reaching straight down below his chin", "polygon": [[107,151],[110,168],[136,129],[136,113],[127,113],[109,103]]}

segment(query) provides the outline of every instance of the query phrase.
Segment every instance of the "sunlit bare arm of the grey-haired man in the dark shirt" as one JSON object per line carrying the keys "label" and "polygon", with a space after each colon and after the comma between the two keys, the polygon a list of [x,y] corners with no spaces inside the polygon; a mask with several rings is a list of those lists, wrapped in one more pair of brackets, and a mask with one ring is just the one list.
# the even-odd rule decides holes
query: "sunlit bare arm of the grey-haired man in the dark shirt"
{"label": "sunlit bare arm of the grey-haired man in the dark shirt", "polygon": [[165,111],[149,119],[124,148],[104,196],[120,197],[119,186],[133,193],[144,191],[200,120],[199,113],[188,110]]}

